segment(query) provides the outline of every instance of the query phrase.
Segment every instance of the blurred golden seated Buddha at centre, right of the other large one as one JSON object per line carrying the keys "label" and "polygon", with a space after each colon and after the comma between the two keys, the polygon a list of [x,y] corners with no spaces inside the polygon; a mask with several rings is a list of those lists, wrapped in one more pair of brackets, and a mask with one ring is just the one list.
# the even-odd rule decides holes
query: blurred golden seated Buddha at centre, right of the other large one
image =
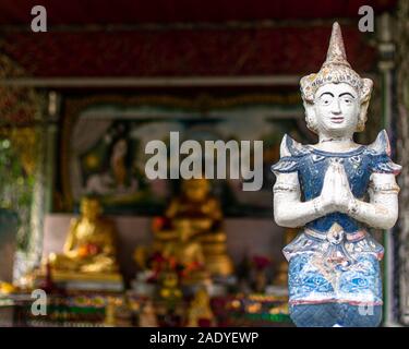
{"label": "blurred golden seated Buddha at centre, right of the other large one", "polygon": [[205,178],[182,182],[180,196],[173,198],[166,210],[165,224],[154,228],[156,250],[161,251],[168,242],[178,239],[176,222],[180,219],[189,220],[192,236],[200,241],[206,269],[212,275],[230,275],[233,267],[226,251],[221,208],[210,195],[209,182]]}

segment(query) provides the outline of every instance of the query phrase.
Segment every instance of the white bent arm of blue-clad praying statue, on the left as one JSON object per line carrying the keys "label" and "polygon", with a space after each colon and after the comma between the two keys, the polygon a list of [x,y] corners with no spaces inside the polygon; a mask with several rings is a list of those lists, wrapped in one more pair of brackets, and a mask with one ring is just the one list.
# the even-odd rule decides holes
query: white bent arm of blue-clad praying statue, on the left
{"label": "white bent arm of blue-clad praying statue, on the left", "polygon": [[325,216],[321,197],[301,202],[300,182],[297,172],[277,173],[274,185],[274,219],[278,226],[302,227]]}

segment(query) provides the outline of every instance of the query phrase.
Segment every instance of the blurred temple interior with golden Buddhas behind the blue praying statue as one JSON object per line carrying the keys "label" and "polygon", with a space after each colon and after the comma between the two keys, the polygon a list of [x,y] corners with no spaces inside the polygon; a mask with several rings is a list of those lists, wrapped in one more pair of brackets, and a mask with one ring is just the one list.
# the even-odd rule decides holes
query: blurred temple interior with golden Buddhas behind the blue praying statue
{"label": "blurred temple interior with golden Buddhas behind the blue praying statue", "polygon": [[[273,218],[270,166],[284,134],[316,142],[299,83],[335,21],[374,82],[357,140],[385,129],[404,168],[398,222],[373,236],[383,326],[409,325],[407,1],[2,0],[0,326],[293,326],[281,250],[299,231]],[[179,173],[190,141],[202,172],[208,142],[232,142],[225,177]]]}

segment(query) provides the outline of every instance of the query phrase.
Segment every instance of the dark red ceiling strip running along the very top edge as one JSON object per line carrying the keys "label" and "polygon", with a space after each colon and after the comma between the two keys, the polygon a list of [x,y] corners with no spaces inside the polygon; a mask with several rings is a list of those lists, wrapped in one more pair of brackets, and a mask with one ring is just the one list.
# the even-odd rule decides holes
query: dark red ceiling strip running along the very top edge
{"label": "dark red ceiling strip running along the very top edge", "polygon": [[396,0],[1,0],[0,25],[27,25],[43,4],[50,25],[219,22],[358,16],[361,5],[376,13]]}

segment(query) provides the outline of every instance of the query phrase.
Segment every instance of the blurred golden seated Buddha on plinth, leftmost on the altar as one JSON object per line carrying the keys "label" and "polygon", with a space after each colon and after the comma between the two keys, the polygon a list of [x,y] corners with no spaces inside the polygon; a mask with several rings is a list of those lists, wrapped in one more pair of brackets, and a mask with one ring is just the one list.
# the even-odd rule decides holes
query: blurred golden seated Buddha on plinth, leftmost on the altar
{"label": "blurred golden seated Buddha on plinth, leftmost on the altar", "polygon": [[62,253],[51,253],[48,264],[52,270],[76,273],[118,272],[116,231],[113,224],[101,217],[96,197],[84,197],[81,216],[72,220]]}

